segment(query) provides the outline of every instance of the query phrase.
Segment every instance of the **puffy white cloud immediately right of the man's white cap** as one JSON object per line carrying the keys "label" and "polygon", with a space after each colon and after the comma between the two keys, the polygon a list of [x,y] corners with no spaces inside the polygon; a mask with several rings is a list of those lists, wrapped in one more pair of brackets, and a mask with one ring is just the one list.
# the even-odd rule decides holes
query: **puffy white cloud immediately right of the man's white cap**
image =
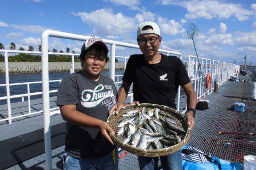
{"label": "puffy white cloud immediately right of the man's white cap", "polygon": [[185,29],[180,25],[179,22],[175,22],[174,19],[167,20],[167,18],[162,18],[162,16],[158,16],[158,25],[160,27],[160,31],[166,35],[174,36],[177,33],[184,33]]}

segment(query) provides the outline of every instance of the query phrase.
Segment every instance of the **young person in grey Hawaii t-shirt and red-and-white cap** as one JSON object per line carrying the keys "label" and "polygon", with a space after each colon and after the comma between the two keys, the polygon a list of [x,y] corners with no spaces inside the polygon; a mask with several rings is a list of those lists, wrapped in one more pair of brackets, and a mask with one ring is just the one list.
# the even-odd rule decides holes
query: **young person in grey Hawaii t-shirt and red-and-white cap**
{"label": "young person in grey Hawaii t-shirt and red-and-white cap", "polygon": [[118,153],[106,123],[116,103],[112,79],[102,75],[108,47],[98,37],[85,41],[81,49],[82,70],[66,76],[57,92],[57,105],[67,121],[64,169],[118,169]]}

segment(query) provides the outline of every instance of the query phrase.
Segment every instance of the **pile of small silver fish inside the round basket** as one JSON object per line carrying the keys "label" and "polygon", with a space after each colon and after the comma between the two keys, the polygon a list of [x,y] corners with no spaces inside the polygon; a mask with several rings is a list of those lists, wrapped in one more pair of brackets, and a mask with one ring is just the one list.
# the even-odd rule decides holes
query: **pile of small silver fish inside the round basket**
{"label": "pile of small silver fish inside the round basket", "polygon": [[177,134],[186,132],[177,126],[177,122],[159,108],[133,109],[122,115],[117,122],[116,136],[123,137],[123,144],[143,150],[170,147],[181,141]]}

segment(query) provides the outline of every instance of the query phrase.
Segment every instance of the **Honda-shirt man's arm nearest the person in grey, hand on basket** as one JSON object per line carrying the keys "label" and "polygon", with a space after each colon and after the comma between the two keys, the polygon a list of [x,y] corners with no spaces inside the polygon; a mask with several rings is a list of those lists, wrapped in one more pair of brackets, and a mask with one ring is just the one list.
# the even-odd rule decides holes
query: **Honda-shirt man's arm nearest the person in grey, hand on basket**
{"label": "Honda-shirt man's arm nearest the person in grey, hand on basket", "polygon": [[126,80],[123,80],[122,86],[118,90],[117,94],[117,104],[113,105],[110,109],[109,114],[115,111],[116,114],[123,108],[123,102],[125,101],[129,89],[131,87],[131,83],[128,83]]}

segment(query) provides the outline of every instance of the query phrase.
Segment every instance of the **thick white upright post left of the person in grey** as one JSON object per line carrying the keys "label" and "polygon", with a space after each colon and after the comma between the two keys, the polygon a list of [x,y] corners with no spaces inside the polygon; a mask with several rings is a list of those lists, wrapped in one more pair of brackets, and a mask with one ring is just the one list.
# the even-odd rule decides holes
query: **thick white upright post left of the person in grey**
{"label": "thick white upright post left of the person in grey", "polygon": [[42,88],[44,113],[44,149],[46,151],[46,169],[52,169],[52,142],[49,112],[49,72],[48,72],[48,31],[42,33]]}

